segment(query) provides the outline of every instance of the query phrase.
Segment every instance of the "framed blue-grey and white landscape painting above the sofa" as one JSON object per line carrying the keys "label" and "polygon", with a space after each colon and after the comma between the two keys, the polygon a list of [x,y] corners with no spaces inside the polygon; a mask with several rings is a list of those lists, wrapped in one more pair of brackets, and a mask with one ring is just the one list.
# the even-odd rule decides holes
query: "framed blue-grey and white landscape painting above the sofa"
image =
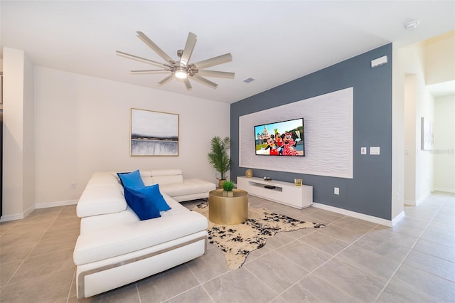
{"label": "framed blue-grey and white landscape painting above the sofa", "polygon": [[131,109],[131,156],[178,156],[179,115]]}

